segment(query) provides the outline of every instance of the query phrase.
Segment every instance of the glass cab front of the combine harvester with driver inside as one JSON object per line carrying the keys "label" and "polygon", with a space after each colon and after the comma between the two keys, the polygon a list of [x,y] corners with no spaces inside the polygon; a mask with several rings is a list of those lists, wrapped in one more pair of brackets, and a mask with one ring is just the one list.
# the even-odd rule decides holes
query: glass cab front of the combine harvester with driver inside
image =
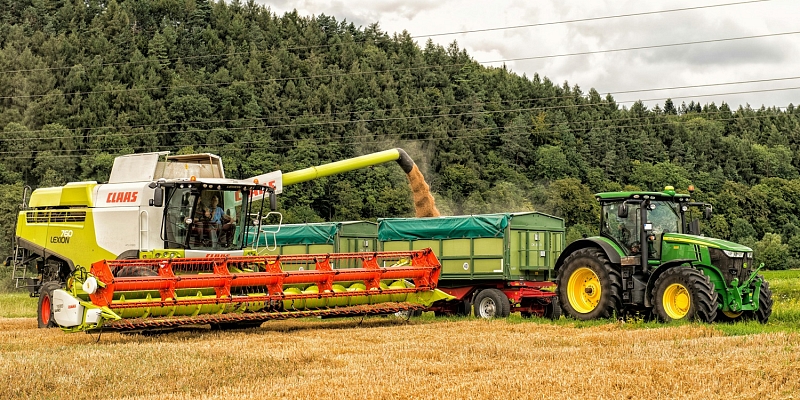
{"label": "glass cab front of the combine harvester with driver inside", "polygon": [[164,241],[167,248],[237,250],[247,231],[248,191],[175,188],[167,199]]}

